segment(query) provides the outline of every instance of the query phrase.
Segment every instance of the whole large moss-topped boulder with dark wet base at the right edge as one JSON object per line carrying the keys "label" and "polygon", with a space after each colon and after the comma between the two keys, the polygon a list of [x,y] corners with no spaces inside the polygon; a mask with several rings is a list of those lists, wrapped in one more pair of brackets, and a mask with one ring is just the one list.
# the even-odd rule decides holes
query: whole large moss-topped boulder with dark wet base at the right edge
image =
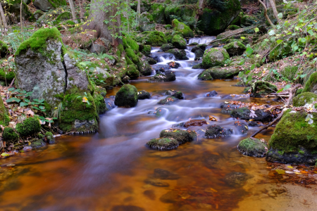
{"label": "whole large moss-topped boulder with dark wet base at the right edge", "polygon": [[268,142],[266,159],[271,162],[316,165],[316,127],[316,113],[287,110],[276,124],[274,134]]}

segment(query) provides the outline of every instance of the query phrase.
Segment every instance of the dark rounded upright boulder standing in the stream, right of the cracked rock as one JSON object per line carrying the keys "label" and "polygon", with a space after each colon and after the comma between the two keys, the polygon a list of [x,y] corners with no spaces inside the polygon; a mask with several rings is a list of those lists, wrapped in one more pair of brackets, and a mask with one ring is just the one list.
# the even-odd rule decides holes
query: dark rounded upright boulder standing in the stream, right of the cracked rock
{"label": "dark rounded upright boulder standing in the stream, right of the cracked rock", "polygon": [[135,107],[137,106],[138,95],[137,88],[130,84],[123,85],[116,94],[115,104],[120,107]]}

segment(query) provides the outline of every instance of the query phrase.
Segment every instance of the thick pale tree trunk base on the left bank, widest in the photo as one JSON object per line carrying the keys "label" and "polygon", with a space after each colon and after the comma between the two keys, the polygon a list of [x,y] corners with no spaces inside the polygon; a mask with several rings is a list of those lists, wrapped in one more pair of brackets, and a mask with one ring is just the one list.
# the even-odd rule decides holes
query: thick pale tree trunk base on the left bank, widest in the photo
{"label": "thick pale tree trunk base on the left bank, widest in the photo", "polygon": [[[106,10],[106,11],[105,11]],[[109,41],[112,41],[114,45],[122,44],[121,39],[114,39],[112,35],[120,35],[121,19],[120,15],[116,15],[116,5],[113,4],[108,8],[100,4],[99,0],[92,0],[90,6],[91,15],[88,22],[83,28],[87,30],[96,30],[97,37],[104,37]],[[111,16],[116,15],[116,22],[111,21]],[[106,20],[106,23],[104,22]]]}

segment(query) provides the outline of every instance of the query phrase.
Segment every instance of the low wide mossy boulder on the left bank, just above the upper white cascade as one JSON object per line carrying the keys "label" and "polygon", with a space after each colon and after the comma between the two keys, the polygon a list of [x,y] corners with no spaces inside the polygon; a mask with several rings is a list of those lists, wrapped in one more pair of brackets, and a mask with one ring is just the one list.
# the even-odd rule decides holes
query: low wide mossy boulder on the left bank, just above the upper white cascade
{"label": "low wide mossy boulder on the left bank, just above the upper white cascade", "polygon": [[162,46],[167,43],[164,33],[156,31],[142,32],[141,34],[137,34],[136,39],[149,46]]}

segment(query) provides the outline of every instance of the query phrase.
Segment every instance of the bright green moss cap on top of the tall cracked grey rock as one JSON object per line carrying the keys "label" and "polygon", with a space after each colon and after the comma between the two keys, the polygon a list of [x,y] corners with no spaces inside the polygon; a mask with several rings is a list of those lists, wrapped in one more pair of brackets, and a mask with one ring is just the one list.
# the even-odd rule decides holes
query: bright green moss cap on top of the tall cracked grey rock
{"label": "bright green moss cap on top of the tall cracked grey rock", "polygon": [[39,53],[44,53],[47,39],[57,39],[63,44],[61,33],[56,27],[41,28],[37,30],[29,39],[23,41],[23,43],[20,44],[18,50],[15,52],[15,56],[18,56],[20,55],[20,53],[27,51],[27,49],[31,49],[32,51]]}

